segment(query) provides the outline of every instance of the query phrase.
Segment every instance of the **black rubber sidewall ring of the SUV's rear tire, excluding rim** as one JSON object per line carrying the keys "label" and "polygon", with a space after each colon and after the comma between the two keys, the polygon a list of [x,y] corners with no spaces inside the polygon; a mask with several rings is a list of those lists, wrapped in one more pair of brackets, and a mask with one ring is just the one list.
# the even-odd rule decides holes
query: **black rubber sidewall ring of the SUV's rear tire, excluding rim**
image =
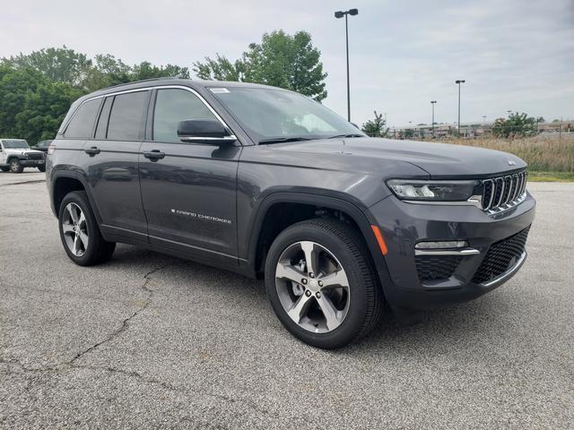
{"label": "black rubber sidewall ring of the SUV's rear tire, excluding rim", "polygon": [[[66,245],[65,243],[64,229],[62,228],[62,217],[64,215],[65,207],[69,203],[77,204],[83,211],[83,216],[86,219],[86,229],[88,231],[88,238],[89,238],[88,248],[86,249],[86,252],[80,257],[74,255],[72,251],[70,251],[70,248],[68,248],[68,245]],[[76,264],[79,264],[81,266],[90,265],[91,262],[94,260],[95,254],[97,253],[100,245],[98,243],[100,239],[100,230],[96,223],[96,219],[93,215],[93,212],[91,211],[90,202],[88,202],[88,198],[85,193],[73,192],[68,193],[64,197],[62,203],[60,204],[60,210],[57,217],[57,224],[58,224],[58,230],[60,232],[60,239],[62,240],[62,245],[64,245],[65,254],[67,254],[70,260],[72,260]]]}

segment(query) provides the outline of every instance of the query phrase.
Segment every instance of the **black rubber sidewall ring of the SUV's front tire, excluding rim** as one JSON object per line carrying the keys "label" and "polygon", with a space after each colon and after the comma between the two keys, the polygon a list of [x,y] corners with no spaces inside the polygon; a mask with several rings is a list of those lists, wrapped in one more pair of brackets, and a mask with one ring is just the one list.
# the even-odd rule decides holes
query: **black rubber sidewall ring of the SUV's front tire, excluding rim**
{"label": "black rubber sidewall ring of the SUV's front tire, excluding rim", "polygon": [[[290,245],[309,240],[324,246],[341,263],[349,280],[349,291],[351,303],[349,311],[341,323],[334,331],[328,333],[313,333],[307,331],[291,320],[291,317],[283,309],[283,305],[277,295],[275,287],[275,269],[279,257]],[[358,246],[357,246],[358,247]],[[359,247],[358,247],[359,248]],[[361,249],[361,248],[359,248]],[[267,296],[274,308],[274,313],[279,320],[297,338],[319,348],[339,348],[352,341],[361,330],[361,324],[365,318],[366,294],[363,288],[363,276],[359,262],[353,258],[349,247],[344,241],[323,228],[311,226],[293,226],[286,229],[274,240],[269,249],[265,261],[265,288]]]}

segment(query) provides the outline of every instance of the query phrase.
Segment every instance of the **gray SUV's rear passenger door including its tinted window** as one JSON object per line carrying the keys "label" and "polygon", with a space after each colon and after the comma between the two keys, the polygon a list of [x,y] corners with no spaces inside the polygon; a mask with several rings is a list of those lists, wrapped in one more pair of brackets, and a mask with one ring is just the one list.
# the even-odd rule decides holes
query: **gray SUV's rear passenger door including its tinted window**
{"label": "gray SUV's rear passenger door including its tinted window", "polygon": [[138,153],[151,90],[106,97],[94,138],[84,144],[81,166],[100,212],[104,233],[147,241]]}

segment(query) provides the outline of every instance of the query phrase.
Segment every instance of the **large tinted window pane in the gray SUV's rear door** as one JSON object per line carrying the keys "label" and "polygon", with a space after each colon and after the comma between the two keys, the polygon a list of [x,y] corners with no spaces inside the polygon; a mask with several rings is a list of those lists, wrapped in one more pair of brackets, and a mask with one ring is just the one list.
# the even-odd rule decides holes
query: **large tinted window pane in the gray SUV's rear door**
{"label": "large tinted window pane in the gray SUV's rear door", "polygon": [[147,91],[120,94],[114,98],[108,125],[108,139],[136,141],[143,130]]}

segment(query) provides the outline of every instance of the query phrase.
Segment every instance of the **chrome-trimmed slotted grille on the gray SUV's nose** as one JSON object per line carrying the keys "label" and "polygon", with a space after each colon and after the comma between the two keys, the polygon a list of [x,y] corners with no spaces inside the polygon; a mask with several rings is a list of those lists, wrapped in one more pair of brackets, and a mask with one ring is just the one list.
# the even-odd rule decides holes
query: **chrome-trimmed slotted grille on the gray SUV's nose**
{"label": "chrome-trimmed slotted grille on the gray SUV's nose", "polygon": [[526,192],[526,171],[483,179],[483,211],[513,206]]}

